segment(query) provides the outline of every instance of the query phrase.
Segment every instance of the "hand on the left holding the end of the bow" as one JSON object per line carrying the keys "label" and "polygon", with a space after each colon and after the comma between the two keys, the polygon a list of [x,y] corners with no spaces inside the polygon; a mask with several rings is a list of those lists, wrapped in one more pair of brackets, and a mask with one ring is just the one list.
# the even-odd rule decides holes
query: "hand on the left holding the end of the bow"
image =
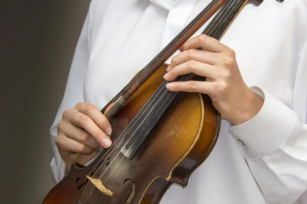
{"label": "hand on the left holding the end of the bow", "polygon": [[84,165],[95,158],[102,148],[108,148],[112,144],[108,137],[112,133],[111,124],[90,103],[78,103],[75,108],[65,110],[57,128],[58,137],[55,142],[66,162],[67,173],[73,162]]}

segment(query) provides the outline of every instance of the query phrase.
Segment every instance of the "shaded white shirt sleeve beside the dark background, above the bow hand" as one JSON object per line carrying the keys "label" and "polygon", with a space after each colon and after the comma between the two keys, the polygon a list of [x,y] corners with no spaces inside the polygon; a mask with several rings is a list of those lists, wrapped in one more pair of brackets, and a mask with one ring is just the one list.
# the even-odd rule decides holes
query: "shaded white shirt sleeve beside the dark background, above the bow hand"
{"label": "shaded white shirt sleeve beside the dark background, above the bow hand", "polygon": [[73,61],[71,64],[67,85],[65,87],[64,96],[62,98],[60,107],[56,114],[55,120],[50,128],[51,143],[53,147],[54,157],[51,161],[51,171],[53,175],[53,181],[58,183],[64,177],[65,162],[62,160],[58,148],[55,144],[57,137],[57,124],[62,119],[62,113],[64,110],[72,109],[79,102],[84,101],[83,96],[83,81],[87,65],[89,63],[89,50],[90,50],[90,32],[91,23],[93,18],[91,2],[89,11],[87,12],[82,31],[79,40],[76,45]]}

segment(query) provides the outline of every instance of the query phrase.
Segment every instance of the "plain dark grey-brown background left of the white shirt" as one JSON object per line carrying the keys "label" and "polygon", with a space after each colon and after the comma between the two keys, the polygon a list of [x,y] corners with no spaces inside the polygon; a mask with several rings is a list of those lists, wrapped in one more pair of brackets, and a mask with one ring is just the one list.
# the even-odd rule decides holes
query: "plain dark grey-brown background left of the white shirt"
{"label": "plain dark grey-brown background left of the white shirt", "polygon": [[49,128],[89,3],[1,1],[0,203],[41,203],[54,185]]}

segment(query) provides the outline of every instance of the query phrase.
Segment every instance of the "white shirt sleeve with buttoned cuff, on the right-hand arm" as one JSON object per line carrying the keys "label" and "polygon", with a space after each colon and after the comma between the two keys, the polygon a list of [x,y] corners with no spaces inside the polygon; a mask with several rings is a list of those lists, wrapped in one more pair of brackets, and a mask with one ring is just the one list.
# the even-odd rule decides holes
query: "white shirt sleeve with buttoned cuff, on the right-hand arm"
{"label": "white shirt sleeve with buttoned cuff, on the right-hand arm", "polygon": [[253,119],[229,131],[266,199],[296,203],[307,189],[307,125],[270,93],[251,89],[264,105]]}

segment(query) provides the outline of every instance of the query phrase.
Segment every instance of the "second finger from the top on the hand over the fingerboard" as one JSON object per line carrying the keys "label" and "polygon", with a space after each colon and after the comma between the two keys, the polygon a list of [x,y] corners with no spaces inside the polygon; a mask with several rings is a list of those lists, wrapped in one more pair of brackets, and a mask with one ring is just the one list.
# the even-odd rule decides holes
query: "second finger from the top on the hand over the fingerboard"
{"label": "second finger from the top on the hand over the fingerboard", "polygon": [[216,53],[210,53],[208,51],[199,50],[199,49],[189,49],[174,56],[171,59],[167,71],[170,71],[173,67],[176,67],[190,60],[203,62],[210,65],[218,64],[218,56]]}

